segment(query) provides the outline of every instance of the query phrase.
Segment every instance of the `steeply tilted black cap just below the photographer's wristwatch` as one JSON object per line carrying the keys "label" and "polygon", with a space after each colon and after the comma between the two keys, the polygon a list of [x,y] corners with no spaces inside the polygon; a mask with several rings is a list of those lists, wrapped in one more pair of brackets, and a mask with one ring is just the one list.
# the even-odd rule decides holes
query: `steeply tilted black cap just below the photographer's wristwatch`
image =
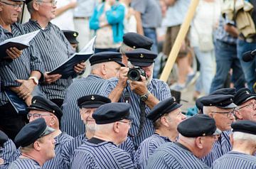
{"label": "steeply tilted black cap just below the photographer's wristwatch", "polygon": [[156,104],[156,106],[151,109],[149,114],[146,115],[146,118],[152,121],[156,121],[162,115],[169,114],[171,111],[174,111],[175,109],[178,109],[178,107],[182,106],[182,104],[178,104],[175,101],[176,100],[174,97],[170,97],[159,102],[159,104]]}

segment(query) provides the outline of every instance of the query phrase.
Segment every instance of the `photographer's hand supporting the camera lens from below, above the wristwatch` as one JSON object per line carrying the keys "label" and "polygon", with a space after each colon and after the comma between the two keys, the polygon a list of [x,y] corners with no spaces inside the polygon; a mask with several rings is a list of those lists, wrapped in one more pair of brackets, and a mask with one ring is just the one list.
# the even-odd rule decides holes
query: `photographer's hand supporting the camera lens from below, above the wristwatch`
{"label": "photographer's hand supporting the camera lens from below, above the wristwatch", "polygon": [[146,92],[148,91],[147,87],[146,87],[146,77],[142,76],[142,81],[130,81],[129,85],[132,89],[133,92],[135,92],[136,94],[139,94],[139,96],[142,96],[143,94],[146,94]]}

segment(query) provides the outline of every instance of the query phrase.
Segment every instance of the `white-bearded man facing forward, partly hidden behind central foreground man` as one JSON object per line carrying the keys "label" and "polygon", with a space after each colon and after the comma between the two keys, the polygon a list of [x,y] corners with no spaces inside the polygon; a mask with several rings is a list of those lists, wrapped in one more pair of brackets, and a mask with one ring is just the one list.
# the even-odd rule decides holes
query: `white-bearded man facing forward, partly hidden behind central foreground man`
{"label": "white-bearded man facing forward, partly hidden behind central foreground man", "polygon": [[[95,112],[95,110],[100,107],[103,104],[110,103],[111,100],[107,97],[102,97],[97,94],[90,94],[84,97],[80,97],[78,99],[78,107],[80,107],[80,116],[82,121],[85,124],[86,132],[82,133],[80,136],[77,136],[73,138],[71,141],[66,143],[63,146],[62,152],[61,152],[61,158],[63,158],[65,165],[67,168],[70,168],[70,160],[72,158],[72,155],[76,148],[81,146],[81,144],[84,141],[87,141],[88,139],[92,138],[92,136],[95,135],[95,119],[92,118],[92,114]],[[124,143],[119,145],[119,148],[121,148],[124,151],[127,151],[133,158],[134,156],[134,145],[132,141],[127,138]]]}

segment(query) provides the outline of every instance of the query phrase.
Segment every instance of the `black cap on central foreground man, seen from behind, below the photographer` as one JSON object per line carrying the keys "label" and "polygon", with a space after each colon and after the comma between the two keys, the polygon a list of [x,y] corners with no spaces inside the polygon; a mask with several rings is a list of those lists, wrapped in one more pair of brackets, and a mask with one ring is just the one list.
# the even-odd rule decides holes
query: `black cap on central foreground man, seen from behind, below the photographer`
{"label": "black cap on central foreground man, seen from behind, below the photographer", "polygon": [[133,119],[129,112],[130,107],[127,103],[107,103],[96,109],[92,117],[96,124],[110,124],[122,119]]}

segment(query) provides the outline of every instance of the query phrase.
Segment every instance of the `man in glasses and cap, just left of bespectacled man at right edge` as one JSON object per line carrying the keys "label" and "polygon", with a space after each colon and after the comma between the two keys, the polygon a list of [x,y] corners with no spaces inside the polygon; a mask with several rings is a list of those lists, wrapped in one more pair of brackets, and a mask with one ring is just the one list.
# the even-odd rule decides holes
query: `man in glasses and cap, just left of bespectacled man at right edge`
{"label": "man in glasses and cap, just left of bespectacled man at right edge", "polygon": [[229,133],[231,124],[235,121],[235,108],[233,103],[233,95],[215,94],[201,98],[203,104],[203,114],[208,114],[216,121],[216,126],[220,131],[223,131],[213,145],[212,151],[203,158],[203,162],[209,167],[213,162],[223,156],[228,151],[231,151]]}

